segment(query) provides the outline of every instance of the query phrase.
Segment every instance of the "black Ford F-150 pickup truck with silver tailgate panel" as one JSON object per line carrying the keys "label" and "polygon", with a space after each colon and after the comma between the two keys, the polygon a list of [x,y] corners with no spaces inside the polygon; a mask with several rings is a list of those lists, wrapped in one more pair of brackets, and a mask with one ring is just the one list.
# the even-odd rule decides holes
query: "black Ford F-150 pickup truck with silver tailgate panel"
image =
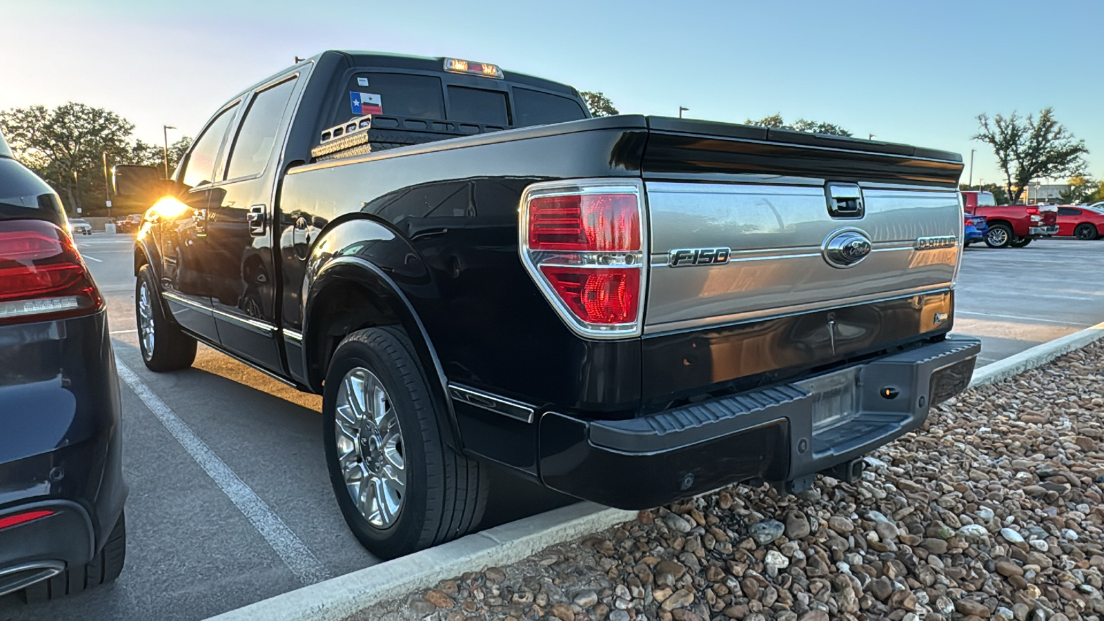
{"label": "black Ford F-150 pickup truck with silver tailgate panel", "polygon": [[488,462],[623,508],[799,490],[968,383],[960,171],[325,52],[220,108],[146,212],[139,340],[156,371],[200,340],[321,393],[338,504],[381,557],[469,531]]}

